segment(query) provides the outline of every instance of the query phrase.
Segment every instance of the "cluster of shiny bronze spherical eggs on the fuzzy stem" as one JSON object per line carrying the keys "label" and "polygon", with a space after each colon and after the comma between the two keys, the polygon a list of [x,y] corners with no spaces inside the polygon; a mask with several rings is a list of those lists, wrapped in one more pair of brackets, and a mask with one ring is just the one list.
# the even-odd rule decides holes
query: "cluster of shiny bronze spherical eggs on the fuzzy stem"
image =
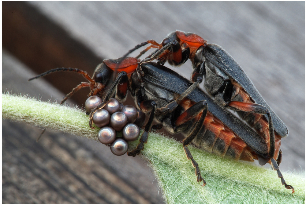
{"label": "cluster of shiny bronze spherical eggs on the fuzzy stem", "polygon": [[[90,113],[92,109],[102,103],[98,96],[91,96],[85,102],[85,109]],[[145,114],[134,106],[119,103],[111,98],[103,109],[96,110],[92,121],[101,129],[98,139],[104,145],[109,145],[115,155],[123,155],[128,151],[127,141],[137,140],[140,129],[144,125]],[[116,137],[116,132],[122,132],[122,138]]]}

